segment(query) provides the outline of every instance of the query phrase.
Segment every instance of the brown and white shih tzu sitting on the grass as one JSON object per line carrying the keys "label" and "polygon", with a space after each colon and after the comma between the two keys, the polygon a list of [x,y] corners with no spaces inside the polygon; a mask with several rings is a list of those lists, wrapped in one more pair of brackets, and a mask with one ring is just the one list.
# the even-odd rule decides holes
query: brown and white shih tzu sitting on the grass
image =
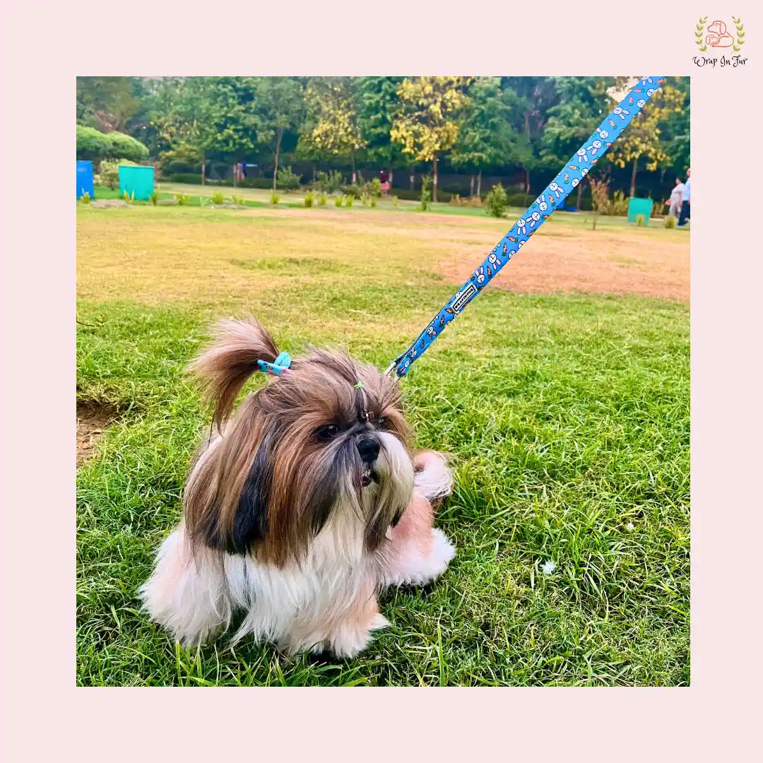
{"label": "brown and white shih tzu sitting on the grass", "polygon": [[[411,454],[396,380],[323,350],[291,365],[283,356],[256,320],[224,320],[192,362],[217,433],[196,456],[182,521],[140,593],[185,645],[240,614],[233,639],[352,657],[387,625],[382,589],[425,584],[452,559],[432,526],[452,477],[438,453]],[[231,416],[262,369],[269,383]]]}

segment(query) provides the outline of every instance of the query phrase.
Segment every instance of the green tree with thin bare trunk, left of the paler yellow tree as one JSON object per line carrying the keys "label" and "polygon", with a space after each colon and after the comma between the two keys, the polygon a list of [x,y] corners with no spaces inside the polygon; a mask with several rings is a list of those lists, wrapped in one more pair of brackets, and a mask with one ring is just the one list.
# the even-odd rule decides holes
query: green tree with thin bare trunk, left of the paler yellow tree
{"label": "green tree with thin bare trunk, left of the paler yellow tree", "polygon": [[254,124],[257,143],[273,156],[273,190],[286,130],[296,130],[304,112],[301,83],[290,77],[257,77],[254,82]]}

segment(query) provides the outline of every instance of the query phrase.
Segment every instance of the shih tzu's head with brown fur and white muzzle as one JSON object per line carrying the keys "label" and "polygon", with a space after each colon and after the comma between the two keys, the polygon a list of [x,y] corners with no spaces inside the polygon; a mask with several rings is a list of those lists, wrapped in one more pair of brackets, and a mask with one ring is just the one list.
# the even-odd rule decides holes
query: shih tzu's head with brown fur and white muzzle
{"label": "shih tzu's head with brown fur and white muzzle", "polygon": [[[209,363],[234,373],[221,346]],[[204,357],[197,369],[210,378]],[[221,389],[230,390],[214,383],[226,397]],[[217,446],[201,454],[185,494],[188,529],[205,546],[277,565],[300,559],[328,524],[373,552],[410,500],[408,442],[397,381],[314,351],[250,394]]]}

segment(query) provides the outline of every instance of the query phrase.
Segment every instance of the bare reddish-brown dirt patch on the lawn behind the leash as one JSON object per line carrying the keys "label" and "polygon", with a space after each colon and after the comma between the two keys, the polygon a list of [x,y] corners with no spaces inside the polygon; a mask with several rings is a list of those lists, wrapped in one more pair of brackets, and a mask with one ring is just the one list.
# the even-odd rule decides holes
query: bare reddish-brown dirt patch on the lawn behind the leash
{"label": "bare reddish-brown dirt patch on the lawn behind the leash", "polygon": [[[489,250],[488,250],[489,251]],[[439,262],[438,270],[462,284],[485,258],[470,249]],[[636,237],[634,233],[570,233],[551,237],[542,231],[501,270],[491,288],[531,294],[558,291],[638,294],[689,299],[688,240]]]}

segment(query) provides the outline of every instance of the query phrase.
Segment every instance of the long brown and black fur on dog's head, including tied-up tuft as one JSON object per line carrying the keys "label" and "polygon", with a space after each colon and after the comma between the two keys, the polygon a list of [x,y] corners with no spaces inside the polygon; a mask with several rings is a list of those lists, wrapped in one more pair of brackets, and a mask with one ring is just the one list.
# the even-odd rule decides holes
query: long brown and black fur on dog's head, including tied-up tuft
{"label": "long brown and black fur on dog's head, including tied-up tuft", "polygon": [[[383,419],[380,428],[408,448],[410,430],[396,380],[349,356],[324,350],[294,359],[287,372],[269,378],[265,387],[249,394],[229,419],[247,378],[259,370],[257,361],[272,362],[276,356],[272,337],[258,321],[224,320],[211,346],[189,366],[201,379],[214,422],[218,429],[224,428],[224,437],[217,447],[198,455],[198,475],[188,486],[184,504],[194,546],[234,548],[282,566],[299,560],[311,537],[327,522],[334,501],[329,500],[330,494],[323,496],[318,491],[328,490],[325,486],[336,482],[329,478],[336,462],[359,459],[355,447],[344,448],[343,436],[324,443],[316,431],[333,423],[349,437],[353,432],[362,433],[364,426],[369,431],[378,427]],[[262,484],[255,485],[256,490],[247,488],[247,478],[259,462],[266,462],[267,467],[260,478]],[[354,491],[359,507],[359,461],[345,466],[353,465],[358,481],[347,489]],[[353,473],[353,469],[344,468],[343,473]],[[267,505],[261,530],[253,522],[253,539],[241,548],[237,546],[237,527],[242,517],[246,520],[242,509],[245,489],[266,490]],[[369,552],[383,541],[403,508],[384,505],[378,516],[369,517],[365,533]]]}

